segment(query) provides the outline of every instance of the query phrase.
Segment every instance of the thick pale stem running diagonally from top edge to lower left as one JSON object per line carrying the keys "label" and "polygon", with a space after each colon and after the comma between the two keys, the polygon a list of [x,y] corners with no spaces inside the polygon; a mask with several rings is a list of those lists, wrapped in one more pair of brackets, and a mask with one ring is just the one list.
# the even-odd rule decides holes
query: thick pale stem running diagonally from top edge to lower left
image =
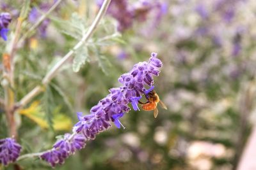
{"label": "thick pale stem running diagonally from top edge to lower left", "polygon": [[[52,69],[45,75],[44,79],[42,80],[42,84],[43,85],[47,85],[49,83],[49,81],[52,80],[52,78],[54,78],[54,76],[56,75],[56,73],[59,71],[59,69],[67,62],[67,60],[69,60],[72,55],[74,54],[74,52],[80,48],[82,45],[84,45],[84,43],[86,41],[88,41],[88,39],[92,36],[93,32],[95,31],[97,25],[99,24],[101,18],[104,16],[104,14],[106,13],[106,10],[108,9],[109,3],[111,2],[111,0],[105,0],[104,3],[102,4],[99,13],[97,14],[97,17],[95,18],[95,20],[93,21],[92,25],[90,26],[90,28],[88,29],[88,31],[86,32],[86,34],[84,34],[83,38],[74,46],[74,48],[72,50],[70,50],[54,67],[52,67]],[[31,99],[33,99],[33,97],[35,97],[36,95],[38,95],[40,92],[42,92],[43,88],[41,86],[36,86],[35,89],[31,90],[31,92],[29,92],[26,96],[24,96],[19,104],[17,104],[17,108],[23,107],[26,104],[29,103],[29,101],[31,101]]]}

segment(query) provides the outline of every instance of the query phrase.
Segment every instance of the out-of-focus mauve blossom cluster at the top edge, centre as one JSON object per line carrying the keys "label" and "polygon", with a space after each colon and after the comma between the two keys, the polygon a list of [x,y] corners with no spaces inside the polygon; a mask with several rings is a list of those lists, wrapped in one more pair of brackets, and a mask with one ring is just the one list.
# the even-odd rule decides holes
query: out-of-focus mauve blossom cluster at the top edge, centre
{"label": "out-of-focus mauve blossom cluster at the top edge, centre", "polygon": [[[103,0],[97,0],[99,6],[101,6],[102,3]],[[145,22],[151,11],[155,14],[154,22],[159,22],[162,15],[166,13],[166,7],[166,3],[161,3],[158,0],[141,0],[133,4],[128,4],[127,0],[113,0],[109,4],[108,13],[118,21],[117,29],[122,32],[129,29],[134,20]]]}

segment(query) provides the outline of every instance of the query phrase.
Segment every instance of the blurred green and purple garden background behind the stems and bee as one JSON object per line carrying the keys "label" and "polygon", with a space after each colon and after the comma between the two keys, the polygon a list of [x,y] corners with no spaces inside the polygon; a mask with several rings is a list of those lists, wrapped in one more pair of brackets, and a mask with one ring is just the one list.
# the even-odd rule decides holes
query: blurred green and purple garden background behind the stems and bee
{"label": "blurred green and purple garden background behind the stems and bee", "polygon": [[[22,33],[54,2],[31,1]],[[101,3],[63,0],[30,32],[15,57],[16,101],[79,41]],[[13,18],[8,41],[21,4],[0,0],[0,10]],[[122,118],[126,129],[112,126],[55,169],[236,169],[256,116],[255,12],[254,0],[113,0],[86,43],[85,64],[70,61],[18,111],[22,153],[51,148],[55,136],[71,131],[77,111],[89,113],[108,89],[120,86],[121,74],[156,52],[163,68],[155,90],[168,110],[159,107],[157,118],[130,111]],[[0,53],[4,49],[1,41]],[[8,136],[3,115],[0,138]],[[19,164],[51,168],[39,159]]]}

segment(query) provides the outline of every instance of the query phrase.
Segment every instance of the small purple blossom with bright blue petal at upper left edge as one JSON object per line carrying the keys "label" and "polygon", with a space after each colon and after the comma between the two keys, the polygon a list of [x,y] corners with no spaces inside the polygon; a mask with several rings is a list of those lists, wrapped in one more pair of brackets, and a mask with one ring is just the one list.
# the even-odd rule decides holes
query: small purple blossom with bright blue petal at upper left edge
{"label": "small purple blossom with bright blue petal at upper left edge", "polygon": [[4,39],[4,41],[7,40],[7,34],[8,34],[8,25],[12,21],[12,17],[10,13],[0,13],[0,35]]}

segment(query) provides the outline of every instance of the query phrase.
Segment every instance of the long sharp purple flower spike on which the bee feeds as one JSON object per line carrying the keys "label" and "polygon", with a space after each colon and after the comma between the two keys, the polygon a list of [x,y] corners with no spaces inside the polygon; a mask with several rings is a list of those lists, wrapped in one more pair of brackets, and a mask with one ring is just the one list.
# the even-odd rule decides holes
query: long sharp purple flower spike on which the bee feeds
{"label": "long sharp purple flower spike on which the bee feeds", "polygon": [[40,158],[52,167],[63,164],[68,156],[83,148],[86,141],[95,139],[99,132],[111,127],[111,122],[118,128],[124,127],[120,118],[131,110],[130,103],[134,110],[139,110],[138,101],[154,88],[153,76],[159,75],[162,65],[161,60],[157,59],[157,53],[152,53],[148,62],[135,64],[129,73],[122,74],[118,79],[122,83],[121,87],[110,89],[108,96],[93,106],[89,115],[77,113],[79,122],[74,125],[73,134],[66,134],[53,145],[52,150],[44,152]]}

